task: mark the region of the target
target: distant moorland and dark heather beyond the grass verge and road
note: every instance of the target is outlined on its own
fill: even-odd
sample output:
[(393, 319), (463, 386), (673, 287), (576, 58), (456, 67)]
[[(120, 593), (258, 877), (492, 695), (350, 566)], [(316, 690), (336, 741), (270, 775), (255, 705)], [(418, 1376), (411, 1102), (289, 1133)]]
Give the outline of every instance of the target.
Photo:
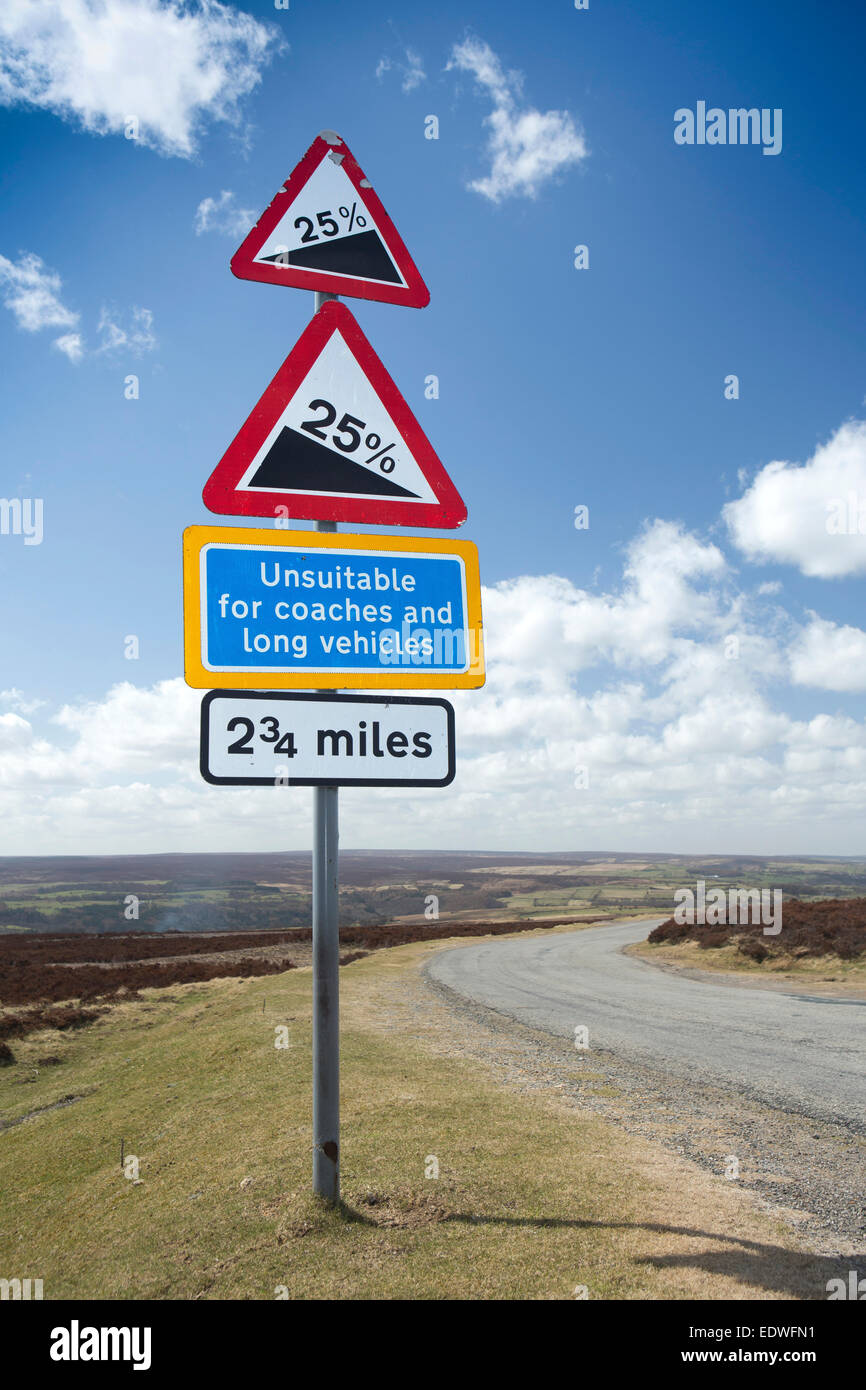
[[(784, 933), (669, 920), (632, 949), (760, 974), (815, 976), (820, 959), (827, 980), (866, 983), (866, 915), (853, 897), (866, 891), (862, 860), (348, 852), (341, 876), (342, 965), (442, 935), (660, 916), (678, 887), (703, 878), (708, 890), (781, 890)], [(92, 1024), (142, 990), (309, 966), (310, 909), (302, 853), (0, 860), (0, 1065), (14, 1063), (28, 1033)]]

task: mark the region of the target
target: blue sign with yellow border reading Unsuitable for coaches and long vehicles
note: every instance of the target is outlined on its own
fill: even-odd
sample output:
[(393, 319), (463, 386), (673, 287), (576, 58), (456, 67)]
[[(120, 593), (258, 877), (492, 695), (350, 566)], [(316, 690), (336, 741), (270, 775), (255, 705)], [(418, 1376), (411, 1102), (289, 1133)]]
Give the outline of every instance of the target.
[[(234, 673), (247, 685), (260, 676), (274, 687), (284, 684), (279, 677), (314, 687), (322, 676), (335, 688), (350, 678), (356, 687), (402, 685), (410, 671), (418, 687), (443, 678), (481, 684), (480, 621), (467, 589), (471, 542), (292, 532), (291, 541), (303, 541), (286, 543), (289, 535), (235, 528), (206, 539), (214, 530), (190, 528), (204, 532), (197, 552), (202, 673), (221, 680)], [(250, 534), (254, 545), (225, 539)], [(477, 577), (468, 580), (477, 588)], [(188, 644), (188, 678), (189, 655)]]

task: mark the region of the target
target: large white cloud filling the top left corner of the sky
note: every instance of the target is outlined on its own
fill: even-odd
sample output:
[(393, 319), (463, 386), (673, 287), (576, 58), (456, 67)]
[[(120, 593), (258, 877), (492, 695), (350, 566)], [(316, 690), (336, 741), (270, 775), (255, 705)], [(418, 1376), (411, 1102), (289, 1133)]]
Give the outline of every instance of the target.
[(3, 0), (0, 104), (95, 135), (135, 118), (140, 143), (189, 157), (209, 121), (239, 122), (278, 47), (272, 26), (217, 0)]

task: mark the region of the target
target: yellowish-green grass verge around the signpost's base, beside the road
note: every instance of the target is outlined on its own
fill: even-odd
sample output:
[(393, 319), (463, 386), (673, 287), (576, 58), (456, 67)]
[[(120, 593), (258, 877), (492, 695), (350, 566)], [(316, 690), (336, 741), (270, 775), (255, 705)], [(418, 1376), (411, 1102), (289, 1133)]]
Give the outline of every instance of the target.
[(441, 947), (342, 972), (339, 1209), (310, 1195), (307, 969), (25, 1037), (0, 1272), (46, 1300), (826, 1297), (837, 1261), (737, 1184), (461, 1056), (453, 1016), (407, 1002)]

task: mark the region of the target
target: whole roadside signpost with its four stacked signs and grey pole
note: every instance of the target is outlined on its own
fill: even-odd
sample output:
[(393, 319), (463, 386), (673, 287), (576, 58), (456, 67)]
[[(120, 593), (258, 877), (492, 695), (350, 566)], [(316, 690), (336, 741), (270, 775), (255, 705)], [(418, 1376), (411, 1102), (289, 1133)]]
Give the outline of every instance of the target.
[(183, 677), (209, 691), (206, 781), (313, 787), (313, 1191), (336, 1204), (339, 787), (448, 787), (455, 712), (430, 695), (334, 692), (484, 685), (478, 552), (471, 541), (316, 534), (338, 521), (466, 521), (466, 503), (353, 314), (327, 303), (430, 302), (339, 135), (317, 136), (232, 271), (316, 291), (316, 310), (203, 500), (221, 516), (291, 513), (316, 531), (185, 530)]

